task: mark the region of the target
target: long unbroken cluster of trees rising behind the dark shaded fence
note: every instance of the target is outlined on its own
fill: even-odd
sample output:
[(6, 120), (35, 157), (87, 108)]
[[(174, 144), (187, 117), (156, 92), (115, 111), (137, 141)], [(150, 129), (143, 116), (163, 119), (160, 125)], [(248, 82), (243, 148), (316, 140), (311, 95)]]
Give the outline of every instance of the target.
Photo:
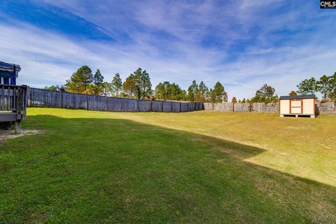
[(228, 102), (228, 93), (218, 81), (213, 88), (208, 88), (203, 81), (198, 85), (196, 80), (183, 90), (176, 83), (165, 81), (156, 85), (152, 90), (151, 78), (146, 70), (141, 68), (134, 71), (123, 80), (116, 73), (109, 83), (97, 69), (93, 74), (89, 66), (81, 66), (74, 72), (65, 85), (45, 86), (45, 90), (59, 90), (81, 94), (97, 94), (110, 97), (125, 97), (130, 99), (158, 99), (191, 102)]

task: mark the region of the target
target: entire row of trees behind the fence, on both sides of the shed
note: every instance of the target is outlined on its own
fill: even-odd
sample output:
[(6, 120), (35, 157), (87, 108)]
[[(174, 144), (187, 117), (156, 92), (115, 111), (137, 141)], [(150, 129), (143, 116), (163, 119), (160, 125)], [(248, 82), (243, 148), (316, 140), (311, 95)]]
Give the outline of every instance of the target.
[[(217, 82), (214, 87), (207, 87), (204, 81), (197, 84), (196, 80), (183, 90), (176, 83), (165, 81), (159, 83), (152, 89), (151, 78), (146, 70), (137, 69), (128, 76), (125, 81), (116, 73), (111, 82), (104, 81), (104, 76), (97, 69), (93, 74), (89, 66), (81, 66), (74, 72), (65, 85), (46, 86), (47, 90), (59, 90), (67, 92), (76, 92), (81, 94), (97, 94), (109, 97), (124, 97), (130, 99), (157, 99), (157, 100), (176, 100), (190, 102), (228, 102), (228, 93), (225, 91), (221, 82)], [(336, 72), (332, 76), (321, 76), (319, 80), (309, 78), (302, 80), (297, 85), (297, 91), (292, 91), (290, 95), (296, 94), (314, 94), (321, 92), (323, 99), (336, 100)], [(274, 87), (262, 85), (255, 92), (251, 99), (236, 99), (232, 97), (232, 103), (254, 103), (254, 102), (278, 102), (279, 97), (275, 94)]]

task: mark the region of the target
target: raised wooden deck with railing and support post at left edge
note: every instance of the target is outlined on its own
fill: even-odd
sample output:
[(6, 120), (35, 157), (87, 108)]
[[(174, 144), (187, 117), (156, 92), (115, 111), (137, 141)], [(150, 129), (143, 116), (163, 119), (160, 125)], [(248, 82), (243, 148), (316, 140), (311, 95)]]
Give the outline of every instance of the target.
[(27, 86), (0, 85), (0, 123), (15, 125), (21, 132), (21, 121), (27, 115)]

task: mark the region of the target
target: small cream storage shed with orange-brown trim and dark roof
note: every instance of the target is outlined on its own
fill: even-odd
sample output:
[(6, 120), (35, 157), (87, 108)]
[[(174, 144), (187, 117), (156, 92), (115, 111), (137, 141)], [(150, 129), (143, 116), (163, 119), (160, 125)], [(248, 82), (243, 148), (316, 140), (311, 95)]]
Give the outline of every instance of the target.
[(315, 101), (314, 94), (298, 96), (282, 96), (279, 98), (280, 117), (283, 116), (310, 116), (315, 118)]

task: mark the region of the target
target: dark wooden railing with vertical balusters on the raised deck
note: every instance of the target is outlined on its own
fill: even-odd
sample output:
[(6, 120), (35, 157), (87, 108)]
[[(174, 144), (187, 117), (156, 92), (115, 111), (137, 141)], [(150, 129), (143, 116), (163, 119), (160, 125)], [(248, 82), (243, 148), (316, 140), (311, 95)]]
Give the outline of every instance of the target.
[(27, 102), (27, 85), (0, 84), (0, 111), (17, 113), (17, 120), (25, 120)]

